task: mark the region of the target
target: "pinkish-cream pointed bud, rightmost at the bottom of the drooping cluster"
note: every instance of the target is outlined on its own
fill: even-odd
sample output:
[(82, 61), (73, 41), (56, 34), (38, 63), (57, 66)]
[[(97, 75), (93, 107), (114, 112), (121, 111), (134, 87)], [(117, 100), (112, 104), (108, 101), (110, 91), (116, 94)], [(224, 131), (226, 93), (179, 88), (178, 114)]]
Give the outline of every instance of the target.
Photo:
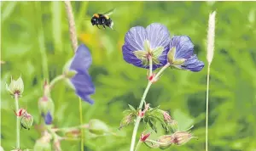
[(172, 134), (171, 142), (176, 145), (183, 145), (184, 143), (189, 142), (191, 138), (193, 137), (192, 134), (189, 133), (189, 131), (177, 131)]

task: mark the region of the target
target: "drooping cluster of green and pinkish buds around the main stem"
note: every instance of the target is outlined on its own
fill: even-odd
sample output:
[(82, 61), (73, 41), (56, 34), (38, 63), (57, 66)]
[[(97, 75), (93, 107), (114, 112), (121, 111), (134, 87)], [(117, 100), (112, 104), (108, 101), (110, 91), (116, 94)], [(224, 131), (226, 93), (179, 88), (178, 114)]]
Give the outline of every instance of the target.
[(140, 141), (145, 143), (149, 148), (166, 149), (172, 145), (188, 143), (193, 138), (189, 131), (178, 131), (177, 121), (172, 119), (167, 111), (161, 110), (159, 107), (150, 108), (149, 103), (145, 104), (144, 109), (134, 109), (131, 105), (129, 107), (129, 110), (125, 110), (128, 115), (125, 115), (121, 121), (120, 128), (134, 122), (136, 116), (139, 116), (156, 133), (158, 131), (157, 122), (169, 133), (169, 135), (160, 136), (156, 140), (151, 140), (151, 132), (143, 132)]

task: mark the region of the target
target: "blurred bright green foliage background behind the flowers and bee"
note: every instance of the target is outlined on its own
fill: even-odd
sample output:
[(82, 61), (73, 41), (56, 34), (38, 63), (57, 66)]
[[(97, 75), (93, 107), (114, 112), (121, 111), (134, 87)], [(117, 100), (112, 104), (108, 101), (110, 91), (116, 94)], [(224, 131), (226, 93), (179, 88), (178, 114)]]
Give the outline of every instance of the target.
[[(101, 119), (118, 131), (122, 112), (128, 103), (137, 107), (147, 84), (147, 70), (125, 63), (122, 44), (132, 26), (159, 22), (172, 35), (188, 35), (195, 53), (206, 64), (208, 14), (217, 10), (215, 55), (210, 84), (209, 145), (215, 151), (255, 151), (256, 149), (256, 3), (255, 2), (72, 2), (79, 43), (92, 53), (90, 75), (96, 84), (96, 103), (83, 104), (84, 121)], [(99, 30), (90, 17), (116, 8), (111, 16), (113, 28)], [(2, 146), (15, 146), (15, 101), (5, 90), (10, 77), (25, 84), (20, 106), (38, 123), (38, 98), (44, 78), (61, 74), (73, 56), (65, 6), (62, 2), (1, 2), (1, 112)], [(171, 115), (182, 130), (194, 125), (199, 137), (172, 151), (202, 151), (205, 148), (205, 98), (207, 67), (193, 73), (167, 70), (149, 90), (147, 102)], [(79, 125), (79, 98), (59, 83), (52, 92), (55, 102), (54, 124)], [(125, 137), (85, 137), (85, 150), (126, 151), (130, 148), (132, 126), (121, 131)], [(143, 131), (143, 126), (139, 132)], [(86, 131), (88, 132), (88, 131)], [(21, 147), (33, 148), (38, 131), (22, 130)], [(137, 135), (139, 137), (139, 135)], [(63, 150), (79, 150), (79, 142), (61, 143)], [(147, 150), (145, 146), (140, 150)], [(157, 150), (157, 149), (155, 149)]]

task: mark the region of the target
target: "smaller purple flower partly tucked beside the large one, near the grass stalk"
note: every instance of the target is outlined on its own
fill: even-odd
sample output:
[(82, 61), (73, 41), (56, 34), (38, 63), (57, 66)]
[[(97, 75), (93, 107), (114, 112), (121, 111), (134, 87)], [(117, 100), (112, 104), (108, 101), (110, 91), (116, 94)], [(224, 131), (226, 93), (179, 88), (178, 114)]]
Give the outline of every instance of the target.
[(167, 54), (171, 67), (181, 70), (200, 71), (205, 64), (193, 54), (194, 44), (189, 36), (173, 36)]

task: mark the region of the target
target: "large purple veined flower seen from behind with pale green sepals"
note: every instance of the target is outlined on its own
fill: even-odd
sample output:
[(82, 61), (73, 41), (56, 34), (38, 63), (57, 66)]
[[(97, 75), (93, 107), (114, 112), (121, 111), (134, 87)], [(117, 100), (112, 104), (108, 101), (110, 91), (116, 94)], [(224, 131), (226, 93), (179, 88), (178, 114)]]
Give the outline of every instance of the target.
[(170, 47), (170, 34), (165, 25), (153, 23), (145, 29), (132, 27), (125, 35), (123, 57), (129, 64), (149, 68), (152, 58), (153, 70), (167, 63), (166, 55)]

